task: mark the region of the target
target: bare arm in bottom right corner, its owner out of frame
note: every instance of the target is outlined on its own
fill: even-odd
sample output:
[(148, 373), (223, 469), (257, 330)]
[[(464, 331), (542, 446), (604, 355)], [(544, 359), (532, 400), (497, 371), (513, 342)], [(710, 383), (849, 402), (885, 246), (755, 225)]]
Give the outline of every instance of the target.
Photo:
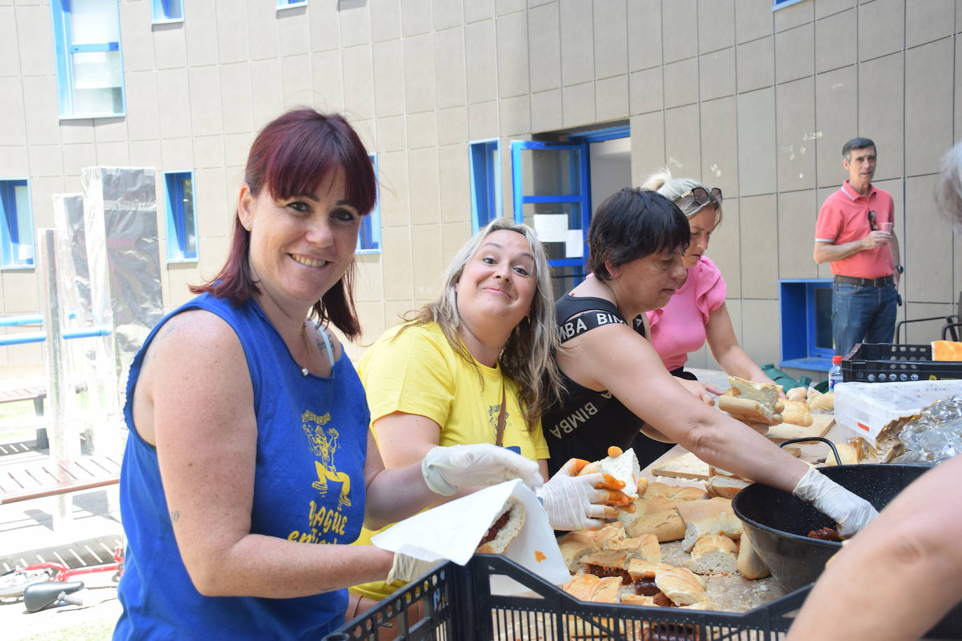
[[(834, 557), (786, 641), (918, 639), (962, 598), (962, 456), (909, 485)], [(825, 625), (825, 622), (831, 625)]]

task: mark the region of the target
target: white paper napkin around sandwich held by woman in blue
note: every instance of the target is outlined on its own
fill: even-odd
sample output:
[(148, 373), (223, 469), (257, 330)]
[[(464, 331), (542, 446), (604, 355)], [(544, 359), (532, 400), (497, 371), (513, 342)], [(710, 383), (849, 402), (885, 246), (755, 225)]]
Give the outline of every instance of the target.
[[(416, 556), (425, 561), (446, 558), (464, 565), (474, 555), (478, 541), (491, 527), (494, 515), (501, 510), (509, 496), (518, 498), (527, 510), (527, 516), (518, 536), (505, 551), (505, 556), (552, 583), (561, 584), (570, 580), (544, 507), (538, 497), (517, 479), (486, 487), (456, 501), (420, 512), (375, 535), (371, 543), (383, 550)], [(495, 594), (515, 594), (526, 589), (511, 579), (495, 577), (492, 580)]]

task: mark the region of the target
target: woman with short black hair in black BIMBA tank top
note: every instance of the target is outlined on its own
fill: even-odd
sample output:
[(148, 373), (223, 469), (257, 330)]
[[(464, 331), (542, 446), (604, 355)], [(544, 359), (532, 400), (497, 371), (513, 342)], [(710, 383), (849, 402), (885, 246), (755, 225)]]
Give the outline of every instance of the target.
[(871, 505), (702, 403), (633, 327), (637, 316), (664, 307), (684, 283), (689, 238), (688, 219), (654, 191), (625, 187), (595, 211), (588, 230), (593, 277), (555, 306), (565, 391), (543, 418), (550, 465), (570, 456), (602, 458), (608, 446), (628, 447), (641, 429), (711, 465), (795, 491), (849, 531), (858, 530), (873, 518)]

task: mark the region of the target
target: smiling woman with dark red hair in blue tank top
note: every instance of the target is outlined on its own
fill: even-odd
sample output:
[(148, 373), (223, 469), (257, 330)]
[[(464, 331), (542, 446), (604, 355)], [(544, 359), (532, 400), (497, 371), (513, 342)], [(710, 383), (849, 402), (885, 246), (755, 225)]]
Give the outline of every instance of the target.
[(364, 390), (327, 330), (361, 333), (354, 248), (375, 196), (341, 116), (291, 111), (255, 139), (226, 264), (131, 366), (114, 638), (319, 638), (343, 621), (343, 588), (430, 568), (346, 545), (362, 525), (452, 488), (541, 484), (536, 463), (490, 445), (384, 469)]

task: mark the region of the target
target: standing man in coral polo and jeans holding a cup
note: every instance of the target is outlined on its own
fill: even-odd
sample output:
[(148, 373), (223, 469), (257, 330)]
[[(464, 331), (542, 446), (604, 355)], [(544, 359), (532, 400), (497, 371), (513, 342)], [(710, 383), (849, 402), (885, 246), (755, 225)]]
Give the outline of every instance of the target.
[(832, 340), (835, 354), (855, 343), (891, 343), (899, 301), (899, 239), (893, 234), (895, 204), (872, 185), (875, 143), (852, 138), (842, 147), (848, 180), (825, 199), (815, 223), (818, 263), (831, 262)]

